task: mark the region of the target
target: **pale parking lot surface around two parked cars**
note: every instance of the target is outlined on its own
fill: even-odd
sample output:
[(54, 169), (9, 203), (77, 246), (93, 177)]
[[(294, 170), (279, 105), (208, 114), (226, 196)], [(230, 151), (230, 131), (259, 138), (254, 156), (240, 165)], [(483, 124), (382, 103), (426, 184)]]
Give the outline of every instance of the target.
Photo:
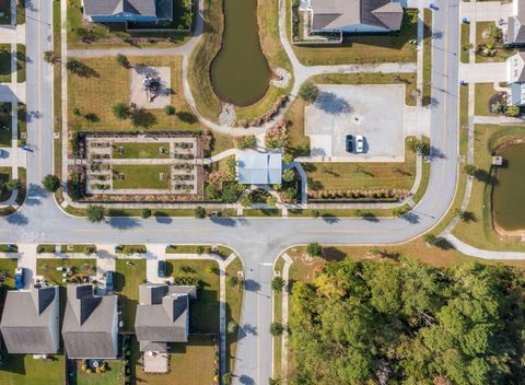
[[(305, 107), (311, 156), (332, 162), (402, 162), (405, 85), (319, 84), (317, 101)], [(362, 153), (347, 152), (348, 135), (364, 137)]]

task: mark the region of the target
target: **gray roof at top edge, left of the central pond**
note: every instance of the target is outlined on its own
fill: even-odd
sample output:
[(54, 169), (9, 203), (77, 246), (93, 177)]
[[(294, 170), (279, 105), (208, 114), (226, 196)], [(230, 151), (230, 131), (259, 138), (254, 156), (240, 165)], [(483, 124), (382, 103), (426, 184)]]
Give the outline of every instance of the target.
[(114, 15), (121, 12), (144, 16), (156, 15), (156, 0), (83, 0), (84, 14)]

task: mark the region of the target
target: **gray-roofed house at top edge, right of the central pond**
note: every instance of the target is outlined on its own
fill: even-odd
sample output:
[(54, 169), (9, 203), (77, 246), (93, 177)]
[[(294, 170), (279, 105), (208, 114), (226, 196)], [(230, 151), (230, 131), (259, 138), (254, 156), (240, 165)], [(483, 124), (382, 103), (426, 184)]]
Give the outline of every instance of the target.
[(404, 10), (393, 0), (310, 0), (312, 33), (380, 33), (401, 28)]

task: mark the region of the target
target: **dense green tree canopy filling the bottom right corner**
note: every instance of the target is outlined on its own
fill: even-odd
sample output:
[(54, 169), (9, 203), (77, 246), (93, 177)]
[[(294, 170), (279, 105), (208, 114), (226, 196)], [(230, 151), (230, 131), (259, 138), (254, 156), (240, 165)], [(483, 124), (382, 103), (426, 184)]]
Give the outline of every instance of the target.
[(504, 266), (329, 262), (292, 288), (291, 384), (524, 384), (524, 294)]

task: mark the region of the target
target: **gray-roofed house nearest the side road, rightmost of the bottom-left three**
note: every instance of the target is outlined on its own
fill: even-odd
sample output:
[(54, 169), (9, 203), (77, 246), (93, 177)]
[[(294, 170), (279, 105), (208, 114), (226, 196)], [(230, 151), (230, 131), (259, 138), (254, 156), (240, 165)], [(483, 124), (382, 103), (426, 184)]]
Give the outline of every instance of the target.
[(187, 342), (189, 301), (197, 299), (197, 288), (143, 283), (135, 319), (140, 351), (165, 353), (168, 342)]

